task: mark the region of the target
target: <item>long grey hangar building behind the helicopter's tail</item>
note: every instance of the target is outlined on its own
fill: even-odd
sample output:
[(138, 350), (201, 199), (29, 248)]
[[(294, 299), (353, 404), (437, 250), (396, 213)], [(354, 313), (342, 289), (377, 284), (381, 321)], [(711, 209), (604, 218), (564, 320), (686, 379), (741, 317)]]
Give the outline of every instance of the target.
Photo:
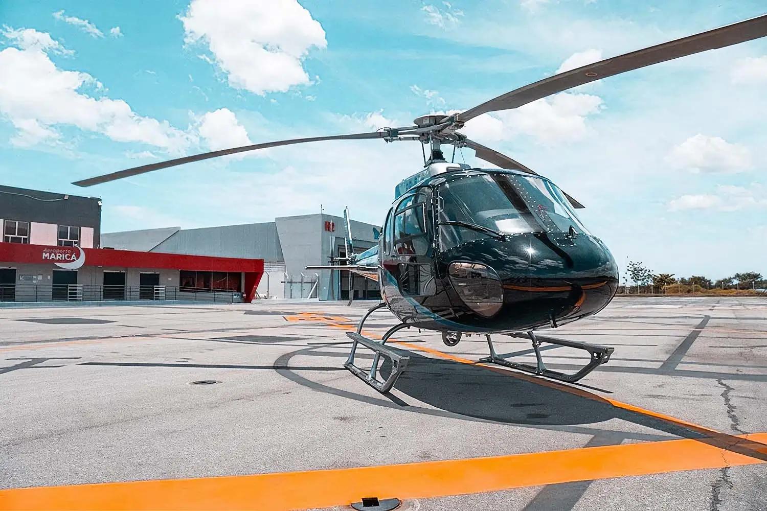
[[(304, 269), (346, 256), (343, 222), (341, 217), (317, 213), (257, 224), (113, 232), (101, 235), (101, 246), (150, 253), (257, 257), (264, 260), (264, 277), (258, 285), (262, 298), (348, 300), (347, 272)], [(377, 244), (379, 226), (359, 221), (350, 224), (354, 253)], [(380, 297), (378, 283), (364, 277), (352, 277), (351, 289), (354, 299)]]

